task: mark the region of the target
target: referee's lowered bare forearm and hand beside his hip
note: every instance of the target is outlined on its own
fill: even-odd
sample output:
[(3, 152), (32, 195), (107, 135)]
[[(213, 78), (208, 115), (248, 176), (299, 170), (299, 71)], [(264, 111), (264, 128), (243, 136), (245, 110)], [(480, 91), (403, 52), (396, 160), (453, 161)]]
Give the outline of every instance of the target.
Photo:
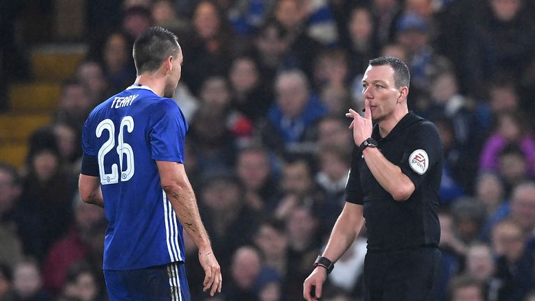
[[(331, 236), (322, 256), (333, 263), (338, 261), (350, 247), (364, 225), (362, 205), (346, 202), (340, 216), (334, 224)], [(327, 270), (318, 265), (307, 277), (303, 284), (303, 297), (308, 300), (318, 300), (322, 295), (323, 282), (327, 279)]]

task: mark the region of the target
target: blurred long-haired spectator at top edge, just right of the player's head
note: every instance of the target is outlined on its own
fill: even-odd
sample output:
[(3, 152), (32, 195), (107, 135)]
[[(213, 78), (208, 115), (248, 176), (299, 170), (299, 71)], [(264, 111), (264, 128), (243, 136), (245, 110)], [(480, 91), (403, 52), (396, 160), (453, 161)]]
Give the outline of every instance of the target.
[(183, 70), (185, 84), (194, 95), (210, 70), (212, 74), (226, 74), (228, 58), (234, 54), (233, 32), (220, 8), (212, 1), (199, 1), (192, 17), (193, 31), (184, 47), (188, 68)]

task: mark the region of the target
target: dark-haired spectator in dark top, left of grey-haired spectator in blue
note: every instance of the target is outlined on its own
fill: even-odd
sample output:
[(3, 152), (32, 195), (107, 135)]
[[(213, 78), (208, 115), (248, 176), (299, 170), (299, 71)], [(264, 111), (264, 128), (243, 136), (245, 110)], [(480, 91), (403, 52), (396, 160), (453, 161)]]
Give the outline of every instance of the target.
[(232, 106), (253, 122), (267, 114), (273, 101), (272, 88), (265, 86), (256, 61), (250, 56), (239, 56), (228, 72)]

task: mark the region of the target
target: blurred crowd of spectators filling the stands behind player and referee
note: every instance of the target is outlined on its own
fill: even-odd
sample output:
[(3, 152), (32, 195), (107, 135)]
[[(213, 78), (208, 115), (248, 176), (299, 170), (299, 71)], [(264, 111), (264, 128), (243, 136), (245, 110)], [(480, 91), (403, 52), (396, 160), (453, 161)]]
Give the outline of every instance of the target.
[[(107, 300), (101, 208), (80, 201), (80, 132), (136, 77), (134, 38), (183, 49), (174, 100), (185, 167), (224, 273), (221, 294), (186, 238), (193, 300), (302, 300), (344, 204), (369, 59), (397, 56), (409, 109), (437, 125), (442, 280), (436, 300), (535, 300), (535, 1), (92, 0), (88, 56), (63, 83), (24, 167), (0, 164), (0, 300)], [(323, 300), (362, 300), (366, 233)]]

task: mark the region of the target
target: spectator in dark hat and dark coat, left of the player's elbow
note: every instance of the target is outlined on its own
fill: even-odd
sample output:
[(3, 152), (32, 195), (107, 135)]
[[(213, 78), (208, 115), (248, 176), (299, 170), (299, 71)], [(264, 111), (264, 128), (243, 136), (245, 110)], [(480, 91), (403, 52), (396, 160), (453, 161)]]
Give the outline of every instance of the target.
[(26, 175), (17, 210), (24, 253), (41, 262), (52, 243), (68, 231), (73, 220), (76, 178), (62, 168), (56, 137), (41, 128), (29, 139)]

